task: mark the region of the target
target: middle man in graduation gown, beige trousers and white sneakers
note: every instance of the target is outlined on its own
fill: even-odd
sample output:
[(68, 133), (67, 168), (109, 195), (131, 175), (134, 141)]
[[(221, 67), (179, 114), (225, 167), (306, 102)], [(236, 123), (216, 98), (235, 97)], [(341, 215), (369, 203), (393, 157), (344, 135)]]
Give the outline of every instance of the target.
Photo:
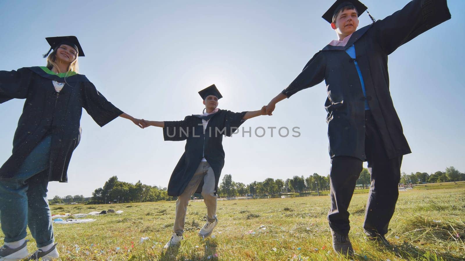
[[(201, 193), (207, 208), (207, 222), (199, 236), (206, 238), (218, 224), (216, 203), (219, 176), (225, 164), (223, 135), (231, 137), (246, 119), (266, 115), (266, 106), (258, 111), (232, 112), (217, 108), (223, 96), (215, 85), (199, 91), (205, 104), (204, 113), (186, 116), (182, 121), (144, 121), (145, 126), (163, 128), (166, 141), (186, 140), (186, 150), (179, 159), (168, 183), (168, 196), (177, 196), (173, 235), (165, 248), (183, 239), (187, 205), (191, 196)], [(144, 126), (144, 127), (145, 127)]]

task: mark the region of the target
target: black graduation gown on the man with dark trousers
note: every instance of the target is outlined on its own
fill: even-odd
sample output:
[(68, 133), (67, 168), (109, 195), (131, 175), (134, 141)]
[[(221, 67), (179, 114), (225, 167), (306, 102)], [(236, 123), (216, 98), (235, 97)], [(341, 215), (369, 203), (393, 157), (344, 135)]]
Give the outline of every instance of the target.
[(387, 156), (411, 153), (389, 92), (387, 56), (450, 18), (446, 0), (413, 0), (385, 19), (354, 32), (346, 46), (323, 48), (282, 93), (289, 98), (325, 80), (329, 154), (365, 161), (365, 97), (353, 59), (345, 52), (355, 44), (366, 99)]

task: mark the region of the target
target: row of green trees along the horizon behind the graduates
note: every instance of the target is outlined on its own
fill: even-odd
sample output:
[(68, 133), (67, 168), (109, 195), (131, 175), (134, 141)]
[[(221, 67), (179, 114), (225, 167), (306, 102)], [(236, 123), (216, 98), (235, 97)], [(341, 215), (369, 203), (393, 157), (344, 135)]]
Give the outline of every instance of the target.
[[(464, 181), (465, 174), (454, 167), (448, 167), (445, 171), (415, 172), (410, 175), (405, 172), (401, 175), (400, 183), (438, 183), (449, 181)], [(360, 189), (368, 189), (371, 183), (368, 169), (363, 168), (357, 185)], [(223, 176), (219, 184), (217, 194), (219, 196), (263, 196), (279, 193), (306, 193), (327, 191), (330, 189), (329, 175), (320, 176), (313, 173), (310, 176), (293, 176), (286, 180), (266, 178), (264, 181), (254, 181), (250, 184), (234, 182), (231, 174)], [(200, 196), (200, 195), (197, 195)], [(66, 197), (55, 196), (50, 203), (87, 202), (93, 204), (122, 203), (122, 202), (155, 202), (176, 200), (176, 197), (168, 196), (166, 188), (137, 183), (119, 181), (117, 176), (112, 176), (103, 187), (95, 189), (92, 198), (82, 195)]]

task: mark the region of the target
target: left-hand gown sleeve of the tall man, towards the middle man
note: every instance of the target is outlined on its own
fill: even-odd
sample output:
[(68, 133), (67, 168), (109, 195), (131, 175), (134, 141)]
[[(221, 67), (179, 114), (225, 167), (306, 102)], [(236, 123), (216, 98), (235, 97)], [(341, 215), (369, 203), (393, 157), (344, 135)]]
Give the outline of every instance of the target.
[(325, 79), (325, 55), (320, 51), (313, 55), (304, 70), (281, 93), (291, 97), (294, 93), (315, 86)]

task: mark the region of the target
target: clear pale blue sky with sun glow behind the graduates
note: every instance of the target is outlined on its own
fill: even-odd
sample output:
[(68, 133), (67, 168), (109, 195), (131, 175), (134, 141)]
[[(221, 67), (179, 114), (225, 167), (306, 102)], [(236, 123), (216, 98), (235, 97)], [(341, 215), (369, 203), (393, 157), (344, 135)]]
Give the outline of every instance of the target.
[[(407, 0), (363, 0), (376, 19)], [(323, 4), (325, 3), (325, 4)], [(197, 91), (215, 84), (220, 109), (258, 110), (299, 74), (336, 33), (321, 15), (332, 1), (0, 1), (0, 70), (45, 65), (45, 37), (75, 35), (86, 57), (80, 73), (122, 111), (148, 120), (181, 120), (203, 109)], [(394, 105), (413, 151), (402, 171), (465, 171), (465, 1), (449, 0), (452, 19), (389, 57)], [(362, 14), (360, 26), (370, 23)], [(252, 137), (225, 137), (224, 174), (242, 183), (316, 172), (326, 176), (325, 84), (280, 102), (273, 116), (247, 120)], [(0, 104), (0, 162), (11, 155), (24, 100)], [(255, 137), (255, 128), (266, 135)], [(185, 142), (164, 142), (160, 128), (117, 118), (103, 128), (85, 111), (69, 183), (55, 195), (91, 196), (110, 176), (166, 187)], [(271, 137), (268, 127), (299, 127)], [(284, 132), (282, 132), (285, 134)], [(262, 131), (259, 130), (261, 135)], [(291, 132), (292, 134), (292, 132)], [(0, 164), (1, 164), (0, 163)]]

